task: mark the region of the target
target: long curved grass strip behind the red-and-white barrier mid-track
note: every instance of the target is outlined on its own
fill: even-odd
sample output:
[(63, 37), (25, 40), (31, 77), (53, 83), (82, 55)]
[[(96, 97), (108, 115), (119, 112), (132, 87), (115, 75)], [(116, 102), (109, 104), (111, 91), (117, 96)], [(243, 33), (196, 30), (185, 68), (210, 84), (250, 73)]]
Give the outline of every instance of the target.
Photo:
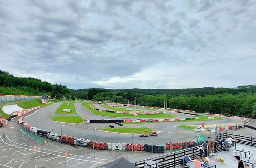
[[(96, 115), (101, 115), (101, 116), (112, 116), (112, 117), (143, 117), (143, 118), (151, 118), (151, 117), (162, 117), (162, 118), (170, 118), (170, 117), (176, 117), (175, 115), (170, 115), (170, 114), (150, 114), (150, 115), (138, 115), (134, 116), (132, 114), (119, 114), (119, 113), (111, 113), (111, 112), (103, 112), (103, 111), (98, 111), (95, 109), (92, 109), (91, 107), (88, 106), (89, 103), (82, 103), (84, 107), (86, 107), (91, 113), (96, 114)], [(92, 104), (91, 104), (92, 105)]]

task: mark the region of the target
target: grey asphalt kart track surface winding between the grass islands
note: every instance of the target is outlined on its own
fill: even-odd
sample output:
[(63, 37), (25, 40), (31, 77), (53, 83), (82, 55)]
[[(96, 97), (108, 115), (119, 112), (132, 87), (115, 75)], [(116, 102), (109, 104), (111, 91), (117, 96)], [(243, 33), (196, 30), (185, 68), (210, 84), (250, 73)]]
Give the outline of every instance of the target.
[[(37, 127), (42, 130), (53, 131), (59, 134), (61, 133), (60, 131), (61, 126), (65, 125), (63, 126), (63, 132), (62, 132), (63, 135), (86, 138), (86, 139), (91, 139), (98, 142), (132, 143), (131, 134), (120, 134), (120, 133), (100, 131), (101, 128), (109, 128), (110, 123), (69, 124), (69, 123), (52, 121), (51, 120), (52, 115), (55, 113), (55, 111), (58, 109), (58, 107), (62, 103), (63, 102), (57, 102), (47, 107), (36, 110), (33, 113), (25, 116), (24, 121), (28, 122), (28, 124), (32, 125), (33, 127)], [(114, 117), (108, 117), (108, 116), (95, 115), (95, 114), (92, 114), (89, 110), (87, 110), (87, 108), (84, 107), (81, 103), (75, 103), (74, 105), (75, 105), (77, 114), (81, 116), (83, 119), (89, 119), (89, 120), (90, 119), (95, 119), (95, 120), (124, 119), (124, 118), (114, 118)], [(142, 119), (141, 116), (140, 116), (140, 119)], [(180, 114), (177, 114), (177, 116), (181, 117)], [(136, 118), (133, 118), (133, 119), (136, 119)], [(190, 124), (195, 125), (195, 124), (202, 124), (202, 122), (204, 122), (205, 124), (216, 124), (216, 123), (236, 123), (236, 122), (242, 122), (242, 120), (226, 117), (224, 118), (224, 120), (211, 120), (211, 121), (164, 122), (164, 123), (159, 122), (159, 123), (146, 123), (146, 124), (124, 124), (123, 126), (119, 126), (116, 124), (113, 124), (113, 125), (115, 126), (115, 128), (148, 127), (153, 130), (160, 131), (158, 136), (153, 136), (150, 138), (141, 138), (139, 137), (138, 134), (134, 134), (133, 142), (151, 144), (152, 141), (154, 141), (154, 143), (156, 144), (165, 144), (166, 142), (168, 142), (168, 139), (170, 136), (172, 139), (189, 138), (189, 137), (196, 136), (194, 132), (177, 128), (175, 127), (176, 125), (190, 125)], [(96, 130), (94, 130), (95, 128)], [(168, 132), (170, 132), (170, 134)], [(95, 133), (95, 136), (94, 136), (94, 133)], [(113, 140), (113, 137), (114, 137), (114, 140)]]

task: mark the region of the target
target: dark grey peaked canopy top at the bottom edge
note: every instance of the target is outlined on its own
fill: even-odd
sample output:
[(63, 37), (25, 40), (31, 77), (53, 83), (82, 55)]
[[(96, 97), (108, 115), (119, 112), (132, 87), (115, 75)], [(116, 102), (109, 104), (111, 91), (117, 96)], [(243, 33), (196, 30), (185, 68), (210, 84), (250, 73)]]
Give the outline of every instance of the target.
[(123, 157), (121, 157), (115, 161), (112, 161), (108, 164), (101, 165), (98, 168), (103, 168), (103, 167), (104, 168), (137, 168), (136, 166), (134, 166), (132, 163), (130, 163)]

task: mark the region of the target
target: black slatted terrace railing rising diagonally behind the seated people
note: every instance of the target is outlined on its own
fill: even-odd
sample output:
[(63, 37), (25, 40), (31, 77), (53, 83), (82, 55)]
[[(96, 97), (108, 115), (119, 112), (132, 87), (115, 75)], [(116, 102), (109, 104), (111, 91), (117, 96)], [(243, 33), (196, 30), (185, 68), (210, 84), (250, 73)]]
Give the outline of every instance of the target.
[[(223, 142), (225, 138), (220, 139), (214, 143), (214, 152), (221, 152), (223, 151)], [(234, 143), (235, 144), (235, 143)], [(139, 168), (144, 167), (144, 162), (147, 160), (153, 160), (157, 162), (158, 167), (160, 168), (168, 168), (168, 167), (175, 167), (180, 165), (181, 159), (184, 156), (189, 156), (191, 159), (195, 159), (196, 156), (202, 157), (204, 154), (204, 150), (199, 148), (200, 146), (184, 149), (181, 151), (153, 157), (151, 159), (141, 160), (138, 162), (134, 162), (133, 164)]]

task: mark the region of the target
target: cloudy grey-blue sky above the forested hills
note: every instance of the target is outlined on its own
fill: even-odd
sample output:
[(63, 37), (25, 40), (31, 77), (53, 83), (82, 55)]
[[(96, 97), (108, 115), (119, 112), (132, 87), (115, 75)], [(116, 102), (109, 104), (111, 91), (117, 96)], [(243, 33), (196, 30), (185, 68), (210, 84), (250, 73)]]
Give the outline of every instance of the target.
[(256, 83), (256, 1), (0, 0), (0, 69), (78, 88)]

